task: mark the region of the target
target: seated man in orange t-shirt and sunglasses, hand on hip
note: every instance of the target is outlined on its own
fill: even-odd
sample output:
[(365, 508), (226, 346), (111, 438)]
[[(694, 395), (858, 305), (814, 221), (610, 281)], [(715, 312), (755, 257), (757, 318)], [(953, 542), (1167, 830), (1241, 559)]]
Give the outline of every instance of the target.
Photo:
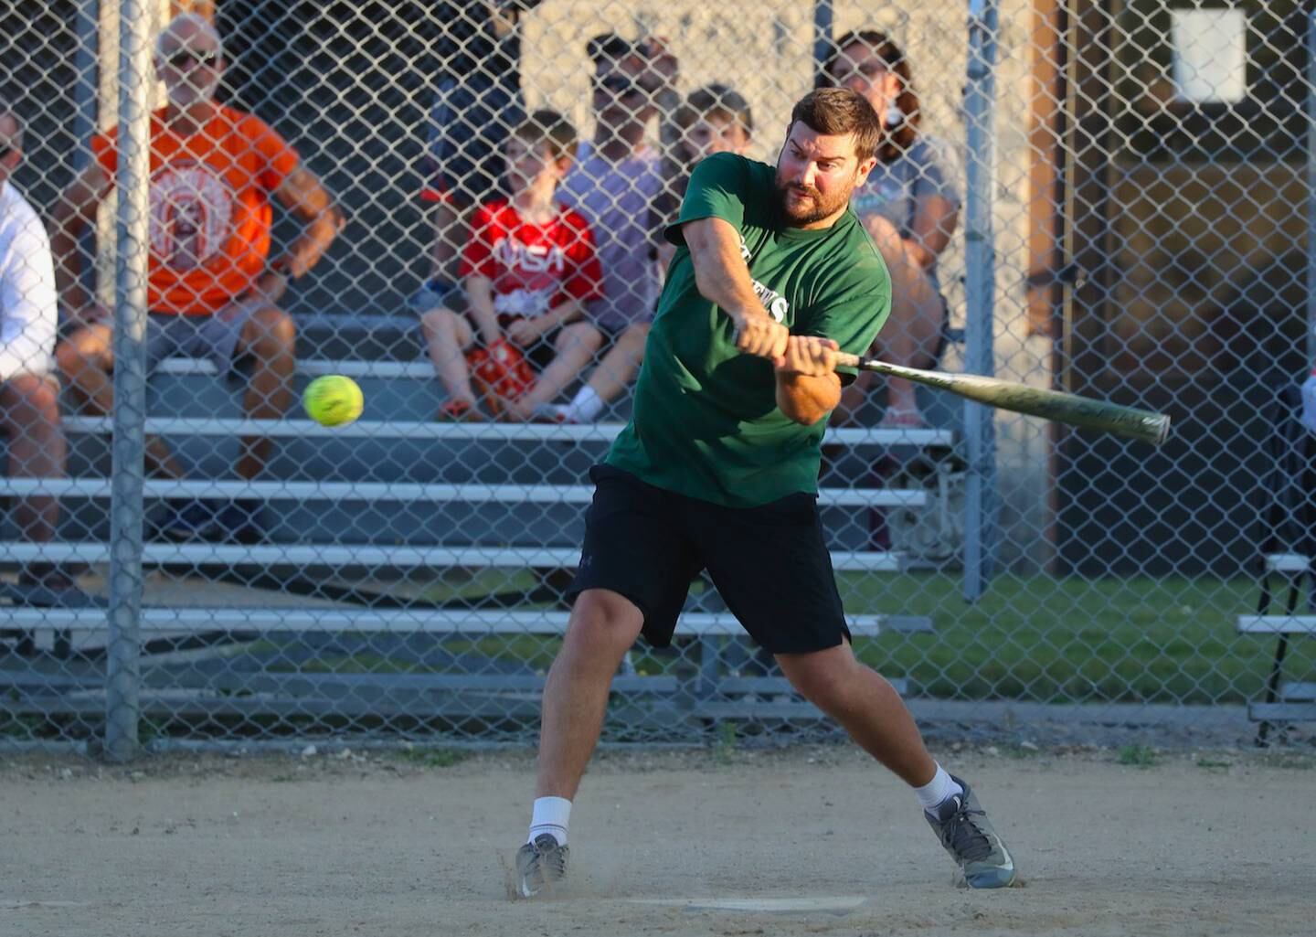
[[(151, 116), (150, 130), (147, 372), (172, 355), (208, 358), (220, 374), (230, 372), (236, 358), (250, 358), (246, 416), (276, 420), (292, 399), (296, 363), (296, 329), (278, 301), (325, 253), (342, 216), (278, 133), (215, 100), (224, 57), (204, 17), (175, 17), (155, 42), (154, 62), (168, 103)], [(113, 188), (116, 133), (97, 136), (92, 153), (96, 159), (54, 213), (55, 275), (72, 326), (55, 355), (86, 409), (104, 415), (113, 408), (113, 322), (82, 286), (78, 238)], [(272, 259), (270, 196), (303, 224)], [(146, 451), (153, 474), (182, 476), (163, 441), (149, 437)], [(237, 475), (254, 479), (268, 451), (267, 438), (242, 440)], [(250, 542), (263, 536), (257, 520), (253, 501), (197, 500), (162, 528), (175, 540)]]

